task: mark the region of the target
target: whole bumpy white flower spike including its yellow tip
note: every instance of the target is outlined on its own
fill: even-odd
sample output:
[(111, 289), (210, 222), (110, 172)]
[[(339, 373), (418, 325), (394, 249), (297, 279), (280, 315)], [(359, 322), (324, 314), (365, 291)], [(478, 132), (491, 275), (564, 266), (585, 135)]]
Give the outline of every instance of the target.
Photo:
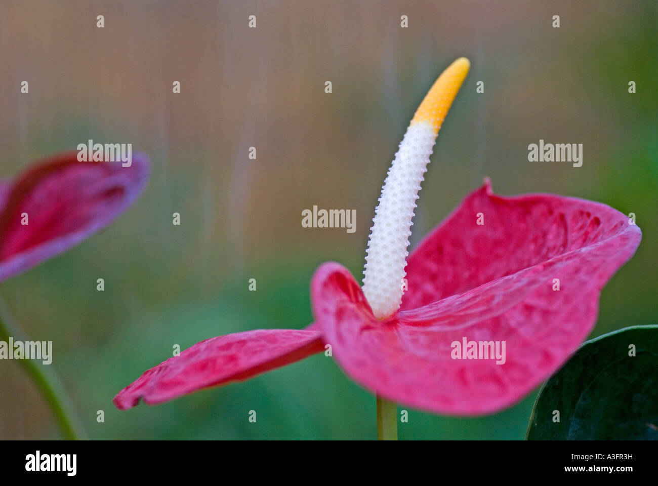
[(443, 119), (469, 67), (468, 59), (461, 57), (436, 80), (409, 124), (384, 181), (363, 272), (363, 293), (378, 318), (392, 315), (402, 301), (411, 220), (420, 182)]

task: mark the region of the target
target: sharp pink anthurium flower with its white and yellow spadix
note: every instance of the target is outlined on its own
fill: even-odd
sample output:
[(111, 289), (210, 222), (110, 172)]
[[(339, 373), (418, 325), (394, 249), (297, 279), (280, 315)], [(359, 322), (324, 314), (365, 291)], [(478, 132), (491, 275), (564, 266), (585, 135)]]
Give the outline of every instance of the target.
[[(470, 416), (511, 406), (565, 363), (594, 327), (601, 288), (640, 244), (640, 229), (619, 211), (551, 194), (497, 196), (485, 180), (407, 261), (420, 182), (468, 68), (461, 58), (443, 72), (395, 154), (363, 288), (324, 263), (311, 281), (313, 325), (199, 342), (143, 373), (114, 404), (158, 404), (331, 346), (343, 371), (378, 396)], [(504, 342), (505, 359), (476, 356), (470, 345), (455, 352), (471, 341)]]

